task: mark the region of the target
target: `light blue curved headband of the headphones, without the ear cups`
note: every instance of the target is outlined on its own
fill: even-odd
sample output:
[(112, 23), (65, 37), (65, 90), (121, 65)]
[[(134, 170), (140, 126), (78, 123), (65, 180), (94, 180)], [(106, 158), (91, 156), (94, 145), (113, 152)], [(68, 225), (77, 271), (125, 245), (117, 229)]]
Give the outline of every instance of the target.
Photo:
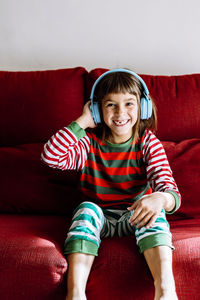
[(106, 75), (108, 74), (111, 74), (111, 73), (117, 73), (117, 72), (121, 72), (121, 73), (128, 73), (128, 74), (131, 74), (133, 76), (135, 76), (137, 79), (139, 79), (139, 81), (141, 82), (142, 86), (143, 86), (143, 89), (144, 89), (144, 92), (143, 94), (145, 96), (148, 96), (149, 95), (149, 90), (146, 86), (146, 83), (144, 82), (144, 80), (138, 75), (136, 74), (135, 72), (133, 71), (130, 71), (130, 70), (127, 70), (127, 69), (113, 69), (113, 70), (110, 70), (110, 71), (107, 71), (105, 73), (103, 73), (101, 76), (99, 76), (97, 78), (97, 80), (95, 81), (93, 87), (92, 87), (92, 90), (91, 90), (91, 94), (90, 94), (90, 99), (93, 100), (94, 99), (94, 92), (95, 92), (95, 89), (96, 89), (96, 86), (97, 84), (99, 83), (99, 81), (101, 81), (101, 79), (103, 77), (105, 77)]

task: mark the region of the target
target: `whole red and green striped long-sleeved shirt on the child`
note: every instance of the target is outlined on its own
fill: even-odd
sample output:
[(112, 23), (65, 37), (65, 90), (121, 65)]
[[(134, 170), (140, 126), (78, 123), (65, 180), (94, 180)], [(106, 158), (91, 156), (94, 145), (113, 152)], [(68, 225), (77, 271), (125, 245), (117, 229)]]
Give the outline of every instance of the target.
[(164, 148), (150, 130), (137, 143), (111, 144), (73, 122), (44, 145), (42, 160), (53, 168), (80, 171), (84, 199), (101, 207), (123, 209), (152, 191), (172, 193), (174, 211), (180, 205)]

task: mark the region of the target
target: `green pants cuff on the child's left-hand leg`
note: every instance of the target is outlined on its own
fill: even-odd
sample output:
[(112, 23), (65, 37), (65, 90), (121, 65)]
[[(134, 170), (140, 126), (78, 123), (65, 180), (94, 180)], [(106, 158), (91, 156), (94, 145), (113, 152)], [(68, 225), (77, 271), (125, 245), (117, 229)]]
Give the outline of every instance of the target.
[(66, 244), (64, 254), (85, 253), (98, 256), (98, 246), (87, 240), (72, 240)]

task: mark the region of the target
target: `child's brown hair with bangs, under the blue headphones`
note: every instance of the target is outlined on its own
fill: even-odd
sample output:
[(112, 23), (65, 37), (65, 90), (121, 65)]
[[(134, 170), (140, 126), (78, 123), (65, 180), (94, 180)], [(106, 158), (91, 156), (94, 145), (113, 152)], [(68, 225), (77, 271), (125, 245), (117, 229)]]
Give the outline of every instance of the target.
[[(140, 108), (140, 98), (143, 94), (143, 86), (138, 78), (133, 76), (130, 73), (126, 72), (115, 72), (110, 73), (104, 76), (98, 85), (95, 88), (95, 101), (99, 104), (99, 111), (101, 116), (101, 124), (99, 124), (96, 128), (96, 132), (100, 135), (100, 138), (105, 140), (110, 136), (111, 132), (110, 129), (103, 121), (103, 114), (102, 114), (102, 100), (104, 97), (110, 93), (129, 93), (136, 96), (138, 101), (138, 107)], [(152, 98), (151, 98), (152, 100)], [(140, 119), (140, 109), (138, 109), (138, 119), (133, 127), (133, 137), (134, 142), (136, 142), (143, 134), (145, 129), (150, 129), (155, 131), (157, 128), (157, 114), (156, 114), (156, 106), (152, 100), (152, 116), (148, 120)]]

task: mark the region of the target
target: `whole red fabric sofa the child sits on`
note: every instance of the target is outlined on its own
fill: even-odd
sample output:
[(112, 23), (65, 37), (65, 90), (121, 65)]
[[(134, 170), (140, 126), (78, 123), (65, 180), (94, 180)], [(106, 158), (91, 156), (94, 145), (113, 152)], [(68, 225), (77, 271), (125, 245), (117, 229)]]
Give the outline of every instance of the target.
[[(77, 118), (94, 80), (84, 68), (0, 72), (0, 299), (62, 300), (62, 254), (79, 174), (45, 166), (43, 144)], [(169, 216), (180, 300), (200, 299), (200, 74), (142, 75), (158, 108), (163, 142), (182, 194)], [(104, 239), (88, 300), (150, 300), (153, 281), (133, 237)]]

